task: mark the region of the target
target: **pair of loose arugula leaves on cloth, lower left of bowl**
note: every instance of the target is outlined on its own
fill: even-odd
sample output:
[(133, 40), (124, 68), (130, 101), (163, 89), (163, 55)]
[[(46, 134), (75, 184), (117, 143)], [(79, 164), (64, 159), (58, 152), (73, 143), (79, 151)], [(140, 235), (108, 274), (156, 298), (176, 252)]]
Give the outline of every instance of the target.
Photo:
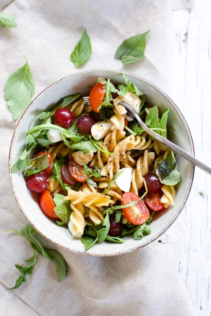
[(47, 258), (50, 261), (53, 261), (55, 267), (56, 267), (56, 272), (57, 272), (57, 277), (58, 277), (58, 282), (61, 282), (66, 274), (67, 274), (67, 265), (65, 262), (65, 259), (60, 255), (59, 252), (52, 250), (52, 249), (47, 249), (44, 248), (40, 242), (34, 237), (36, 235), (39, 237), (39, 234), (36, 232), (36, 230), (31, 226), (31, 225), (26, 225), (22, 230), (16, 231), (16, 230), (8, 230), (9, 232), (13, 233), (18, 233), (24, 236), (28, 241), (30, 242), (34, 255), (29, 258), (28, 260), (25, 260), (28, 262), (28, 266), (22, 267), (18, 264), (16, 264), (16, 268), (21, 272), (21, 275), (17, 278), (16, 284), (13, 288), (11, 289), (17, 289), (23, 282), (26, 282), (26, 275), (32, 273), (32, 269), (34, 264), (36, 263), (36, 253), (35, 250), (43, 257)]

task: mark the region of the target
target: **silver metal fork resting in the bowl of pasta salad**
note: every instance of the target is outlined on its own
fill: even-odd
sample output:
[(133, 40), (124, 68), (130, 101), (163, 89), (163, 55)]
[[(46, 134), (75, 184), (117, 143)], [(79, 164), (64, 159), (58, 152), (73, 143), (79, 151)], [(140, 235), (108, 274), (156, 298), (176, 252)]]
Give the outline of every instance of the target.
[[(89, 102), (89, 97), (84, 97), (84, 101), (90, 105)], [(110, 99), (110, 101), (114, 101), (114, 99)], [(125, 106), (127, 109), (127, 115), (130, 116), (133, 119), (136, 119), (138, 121), (138, 123), (141, 125), (141, 127), (143, 128), (143, 130), (145, 130), (147, 132), (147, 134), (149, 134), (150, 136), (154, 137), (154, 139), (156, 139), (158, 142), (160, 142), (161, 144), (165, 145), (166, 147), (168, 147), (169, 149), (173, 150), (174, 152), (176, 152), (177, 154), (183, 156), (186, 160), (192, 162), (195, 166), (201, 168), (203, 171), (207, 172), (208, 174), (211, 175), (211, 168), (209, 168), (208, 166), (206, 166), (204, 163), (202, 163), (201, 161), (199, 161), (198, 159), (196, 159), (194, 156), (190, 155), (187, 151), (185, 151), (184, 149), (180, 148), (179, 146), (175, 145), (174, 143), (172, 143), (170, 140), (164, 138), (163, 136), (157, 134), (156, 132), (152, 131), (150, 128), (148, 128), (144, 122), (140, 119), (140, 117), (138, 116), (138, 114), (133, 110), (133, 108), (131, 106), (129, 106), (127, 103), (120, 101), (119, 102), (121, 105)]]

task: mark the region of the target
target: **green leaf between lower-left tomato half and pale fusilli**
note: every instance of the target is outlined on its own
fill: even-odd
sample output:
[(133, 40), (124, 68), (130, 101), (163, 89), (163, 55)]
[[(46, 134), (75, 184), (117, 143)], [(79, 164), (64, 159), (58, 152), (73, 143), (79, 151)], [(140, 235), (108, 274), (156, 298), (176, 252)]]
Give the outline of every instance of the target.
[(65, 196), (56, 193), (53, 197), (55, 203), (54, 212), (62, 220), (62, 222), (56, 221), (59, 226), (66, 225), (70, 220), (72, 209), (70, 207), (70, 201), (65, 200)]

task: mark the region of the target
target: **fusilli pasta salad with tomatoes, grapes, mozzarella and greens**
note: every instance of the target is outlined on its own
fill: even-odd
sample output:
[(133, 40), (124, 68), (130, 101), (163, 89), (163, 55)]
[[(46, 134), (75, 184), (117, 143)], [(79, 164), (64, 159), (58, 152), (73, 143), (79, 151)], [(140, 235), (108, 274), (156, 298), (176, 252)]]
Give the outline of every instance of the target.
[(12, 167), (40, 194), (41, 210), (59, 226), (67, 225), (86, 250), (96, 242), (123, 243), (125, 237), (150, 234), (154, 213), (174, 205), (180, 181), (174, 153), (127, 116), (119, 102), (164, 137), (169, 109), (161, 115), (123, 78), (125, 84), (98, 78), (90, 105), (77, 93), (40, 113), (40, 124), (28, 131)]

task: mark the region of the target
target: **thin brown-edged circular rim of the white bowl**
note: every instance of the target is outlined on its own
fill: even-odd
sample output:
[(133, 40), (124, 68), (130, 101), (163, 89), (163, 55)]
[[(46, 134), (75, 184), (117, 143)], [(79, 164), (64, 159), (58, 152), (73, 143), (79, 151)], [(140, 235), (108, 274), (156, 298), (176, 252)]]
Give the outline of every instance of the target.
[(130, 72), (127, 72), (127, 71), (121, 71), (121, 70), (113, 70), (113, 69), (93, 69), (93, 70), (85, 70), (85, 71), (80, 71), (80, 72), (76, 72), (76, 73), (73, 73), (71, 75), (68, 75), (68, 76), (65, 76), (55, 82), (53, 82), (51, 85), (49, 85), (47, 88), (45, 88), (43, 91), (41, 91), (32, 101), (31, 103), (27, 106), (27, 108), (25, 109), (25, 111), (23, 112), (23, 114), (21, 115), (20, 119), (18, 120), (18, 123), (15, 127), (15, 130), (13, 132), (13, 136), (12, 136), (12, 139), (11, 139), (11, 143), (10, 143), (10, 147), (9, 147), (9, 160), (8, 160), (8, 168), (9, 168), (9, 182), (10, 182), (10, 185), (11, 185), (11, 188), (12, 188), (12, 191), (13, 191), (13, 194), (15, 196), (15, 199), (16, 199), (16, 202), (20, 208), (20, 210), (22, 211), (23, 215), (26, 217), (26, 219), (28, 220), (28, 222), (30, 223), (30, 225), (32, 227), (34, 227), (34, 229), (41, 235), (43, 236), (44, 238), (46, 238), (47, 240), (51, 241), (53, 244), (55, 244), (56, 246), (59, 246), (63, 249), (66, 249), (66, 250), (69, 250), (69, 251), (72, 251), (72, 252), (75, 252), (75, 253), (79, 253), (79, 254), (84, 254), (84, 255), (89, 255), (89, 256), (99, 256), (99, 257), (106, 257), (106, 256), (114, 256), (114, 255), (119, 255), (119, 254), (124, 254), (124, 253), (128, 253), (128, 252), (132, 252), (134, 250), (137, 250), (137, 249), (140, 249), (148, 244), (150, 244), (152, 241), (158, 239), (162, 234), (164, 234), (164, 232), (166, 232), (166, 230), (173, 224), (173, 222), (177, 219), (177, 217), (179, 216), (179, 214), (181, 213), (181, 211), (183, 210), (183, 207), (189, 197), (189, 194), (190, 194), (190, 190), (192, 188), (192, 184), (193, 184), (193, 179), (194, 179), (194, 173), (195, 173), (195, 166), (192, 165), (192, 168), (191, 168), (191, 174), (190, 174), (190, 182), (189, 182), (189, 187), (188, 187), (188, 192), (187, 192), (187, 196), (185, 198), (185, 200), (183, 201), (183, 204), (180, 206), (180, 209), (177, 211), (177, 214), (172, 218), (172, 220), (169, 222), (169, 224), (163, 228), (161, 230), (161, 232), (159, 234), (157, 234), (156, 236), (152, 237), (149, 241), (145, 242), (144, 244), (142, 245), (139, 245), (137, 247), (133, 247), (133, 248), (130, 248), (130, 249), (127, 249), (127, 250), (122, 250), (122, 251), (119, 251), (119, 252), (112, 252), (112, 253), (90, 253), (90, 252), (86, 252), (86, 251), (79, 251), (79, 250), (76, 250), (76, 249), (72, 249), (71, 247), (67, 247), (65, 245), (62, 245), (62, 244), (59, 244), (57, 241), (55, 240), (52, 240), (50, 239), (49, 237), (47, 237), (45, 234), (43, 234), (42, 232), (40, 232), (39, 228), (36, 227), (36, 225), (34, 225), (33, 223), (31, 223), (28, 219), (28, 217), (26, 216), (26, 214), (24, 213), (24, 211), (22, 210), (21, 208), (21, 205), (19, 203), (19, 200), (18, 200), (18, 197), (16, 195), (16, 191), (15, 191), (15, 187), (13, 186), (13, 181), (12, 181), (12, 173), (11, 173), (11, 156), (12, 156), (12, 151), (13, 151), (13, 141), (14, 141), (14, 138), (15, 138), (15, 135), (16, 135), (16, 131), (18, 130), (18, 127), (19, 125), (21, 124), (22, 122), (22, 119), (24, 118), (24, 116), (27, 114), (27, 112), (30, 110), (30, 108), (34, 105), (34, 103), (40, 99), (40, 97), (45, 94), (48, 90), (50, 90), (51, 88), (53, 88), (55, 85), (59, 84), (60, 82), (62, 81), (65, 81), (67, 78), (70, 78), (70, 77), (75, 77), (75, 76), (83, 76), (84, 74), (89, 74), (89, 73), (93, 73), (93, 72), (99, 72), (99, 71), (102, 71), (102, 72), (113, 72), (113, 73), (118, 73), (118, 74), (125, 74), (126, 76), (129, 75), (129, 76), (132, 76), (132, 77), (135, 77), (139, 80), (141, 80), (142, 82), (148, 84), (149, 86), (151, 86), (152, 88), (154, 88), (155, 90), (158, 91), (158, 93), (162, 94), (170, 103), (171, 105), (177, 110), (177, 112), (179, 113), (179, 115), (182, 117), (183, 119), (183, 124), (185, 126), (185, 129), (187, 130), (188, 132), (188, 135), (189, 135), (189, 140), (190, 140), (190, 145), (191, 145), (191, 149), (192, 149), (192, 153), (193, 155), (195, 156), (195, 148), (194, 148), (194, 143), (193, 143), (193, 137), (191, 135), (191, 132), (190, 132), (190, 129), (189, 129), (189, 126), (188, 126), (188, 123), (186, 121), (186, 119), (184, 118), (182, 112), (180, 111), (180, 109), (178, 108), (178, 106), (175, 104), (175, 102), (162, 90), (160, 89), (159, 87), (157, 87), (154, 83), (146, 80), (145, 78), (142, 78), (138, 75), (135, 75), (133, 73), (130, 73)]

